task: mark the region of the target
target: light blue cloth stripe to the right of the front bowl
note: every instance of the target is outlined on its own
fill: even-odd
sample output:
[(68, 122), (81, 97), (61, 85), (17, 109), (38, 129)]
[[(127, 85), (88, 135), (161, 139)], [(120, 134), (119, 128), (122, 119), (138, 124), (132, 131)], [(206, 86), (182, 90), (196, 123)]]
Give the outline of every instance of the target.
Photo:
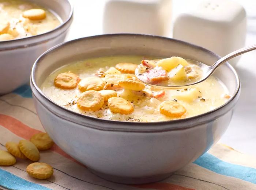
[(218, 174), (242, 179), (256, 184), (256, 169), (224, 162), (211, 154), (200, 156), (195, 162), (198, 166), (214, 171)]

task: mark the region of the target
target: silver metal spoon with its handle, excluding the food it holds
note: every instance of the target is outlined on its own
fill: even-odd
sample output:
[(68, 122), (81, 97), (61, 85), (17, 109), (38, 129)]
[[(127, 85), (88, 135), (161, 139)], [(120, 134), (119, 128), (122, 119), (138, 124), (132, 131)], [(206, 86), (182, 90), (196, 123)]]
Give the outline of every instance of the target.
[(199, 61), (194, 61), (194, 60), (191, 60), (191, 59), (186, 59), (186, 61), (188, 61), (189, 63), (193, 63), (193, 64), (199, 66), (200, 69), (202, 69), (202, 71), (203, 71), (203, 75), (202, 75), (201, 78), (199, 78), (198, 81), (192, 81), (191, 84), (187, 84), (187, 85), (177, 85), (177, 86), (173, 86), (172, 85), (172, 86), (170, 86), (170, 85), (161, 84), (161, 83), (159, 83), (159, 84), (149, 83), (148, 81), (145, 81), (143, 77), (141, 77), (141, 74), (138, 72), (139, 71), (138, 67), (135, 70), (135, 75), (136, 75), (136, 77), (140, 81), (142, 81), (143, 83), (145, 83), (145, 84), (147, 84), (149, 86), (158, 87), (158, 88), (164, 88), (164, 89), (187, 88), (189, 86), (193, 86), (193, 85), (196, 85), (196, 84), (198, 84), (200, 82), (205, 81), (207, 78), (209, 78), (212, 75), (212, 73), (218, 68), (218, 66), (222, 65), (222, 63), (225, 63), (229, 59), (232, 59), (234, 57), (237, 57), (238, 55), (244, 54), (244, 53), (252, 51), (252, 50), (256, 50), (256, 44), (254, 44), (252, 46), (248, 46), (248, 47), (243, 47), (243, 48), (241, 48), (239, 50), (233, 51), (232, 53), (227, 54), (226, 56), (224, 56), (221, 59), (219, 59), (217, 62), (215, 62), (211, 66), (208, 66), (208, 65), (206, 65), (204, 63), (201, 63)]

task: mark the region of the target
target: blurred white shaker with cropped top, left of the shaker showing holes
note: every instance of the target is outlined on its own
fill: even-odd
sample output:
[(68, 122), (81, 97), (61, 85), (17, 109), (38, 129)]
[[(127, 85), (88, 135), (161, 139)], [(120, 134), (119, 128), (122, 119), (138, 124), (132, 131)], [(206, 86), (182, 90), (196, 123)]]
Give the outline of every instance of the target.
[(169, 36), (172, 0), (108, 0), (103, 33), (139, 33)]

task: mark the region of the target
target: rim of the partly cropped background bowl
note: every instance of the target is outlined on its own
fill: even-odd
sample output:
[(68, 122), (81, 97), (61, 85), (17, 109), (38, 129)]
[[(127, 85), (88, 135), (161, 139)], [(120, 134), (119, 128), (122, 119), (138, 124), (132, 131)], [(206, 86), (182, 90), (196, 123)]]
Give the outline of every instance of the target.
[[(59, 26), (57, 26), (53, 30), (44, 32), (42, 34), (38, 34), (38, 35), (34, 35), (34, 36), (29, 36), (29, 37), (25, 37), (25, 38), (13, 39), (13, 40), (0, 41), (0, 45), (1, 46), (4, 46), (7, 43), (8, 43), (8, 45), (10, 45), (10, 43), (13, 44), (12, 46), (7, 47), (7, 48), (3, 48), (3, 49), (0, 48), (0, 51), (2, 51), (2, 50), (3, 51), (4, 50), (9, 50), (9, 49), (17, 49), (17, 48), (21, 48), (21, 47), (24, 47), (24, 46), (26, 46), (26, 47), (34, 46), (36, 44), (44, 43), (45, 41), (48, 41), (49, 39), (39, 40), (39, 38), (41, 38), (42, 36), (45, 36), (45, 35), (52, 34), (52, 33), (56, 32), (57, 30), (60, 30), (60, 29), (64, 28), (70, 22), (70, 20), (72, 20), (73, 13), (74, 13), (74, 5), (70, 2), (70, 0), (64, 0), (64, 1), (67, 1), (67, 3), (70, 6), (70, 12), (69, 12), (68, 18), (67, 18), (67, 20), (65, 20), (65, 22), (61, 23)], [(27, 40), (37, 40), (37, 41), (34, 42), (34, 43), (26, 44)], [(24, 43), (24, 44), (23, 45), (19, 45), (19, 46), (15, 46), (15, 43)]]

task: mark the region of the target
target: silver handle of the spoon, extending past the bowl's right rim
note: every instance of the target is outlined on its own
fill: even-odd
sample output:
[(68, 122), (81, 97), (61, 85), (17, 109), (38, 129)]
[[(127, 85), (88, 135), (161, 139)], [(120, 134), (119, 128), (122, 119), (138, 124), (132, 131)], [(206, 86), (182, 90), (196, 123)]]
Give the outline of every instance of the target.
[(256, 50), (256, 44), (253, 44), (251, 46), (247, 46), (247, 47), (243, 47), (239, 50), (233, 51), (230, 54), (227, 54), (226, 56), (224, 56), (223, 58), (219, 59), (218, 61), (216, 61), (211, 67), (212, 69), (212, 73), (213, 71), (215, 71), (215, 69), (221, 65), (222, 63), (225, 63), (226, 61), (228, 61), (229, 59), (232, 59), (234, 57), (237, 57), (238, 55), (244, 54), (248, 51), (252, 51), (252, 50)]

